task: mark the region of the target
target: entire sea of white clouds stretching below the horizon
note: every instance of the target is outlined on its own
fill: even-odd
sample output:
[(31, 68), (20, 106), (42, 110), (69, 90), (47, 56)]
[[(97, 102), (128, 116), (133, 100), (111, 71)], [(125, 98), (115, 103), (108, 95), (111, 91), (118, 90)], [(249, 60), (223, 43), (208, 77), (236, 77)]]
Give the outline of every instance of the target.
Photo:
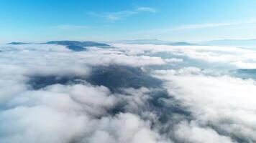
[[(140, 69), (161, 84), (113, 92), (86, 80), (95, 67), (113, 65)], [(256, 142), (256, 72), (243, 77), (237, 69), (256, 69), (255, 49), (1, 45), (0, 142)], [(76, 81), (35, 88), (35, 77)]]

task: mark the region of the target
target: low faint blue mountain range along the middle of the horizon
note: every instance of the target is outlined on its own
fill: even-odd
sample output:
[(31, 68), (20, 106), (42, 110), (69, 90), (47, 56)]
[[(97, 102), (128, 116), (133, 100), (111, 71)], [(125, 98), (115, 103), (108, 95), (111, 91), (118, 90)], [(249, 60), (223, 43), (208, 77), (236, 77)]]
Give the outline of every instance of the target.
[(172, 46), (189, 46), (196, 45), (192, 43), (188, 43), (185, 41), (163, 41), (157, 39), (137, 39), (137, 40), (119, 40), (119, 41), (111, 41), (111, 43), (121, 43), (121, 44), (166, 44)]

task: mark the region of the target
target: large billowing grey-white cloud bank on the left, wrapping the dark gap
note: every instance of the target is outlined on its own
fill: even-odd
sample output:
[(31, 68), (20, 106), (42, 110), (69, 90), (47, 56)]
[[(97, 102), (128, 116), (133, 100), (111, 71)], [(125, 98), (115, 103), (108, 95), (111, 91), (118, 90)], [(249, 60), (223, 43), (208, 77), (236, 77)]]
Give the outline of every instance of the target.
[[(74, 52), (65, 46), (47, 44), (4, 46), (2, 50), (0, 142), (164, 141), (158, 132), (150, 129), (150, 121), (132, 113), (108, 114), (119, 102), (133, 101), (140, 106), (144, 98), (116, 97), (106, 87), (86, 82), (52, 84), (42, 89), (32, 89), (27, 83), (34, 76), (87, 77), (91, 66), (149, 66), (165, 64), (163, 59), (96, 47)], [(132, 107), (127, 105), (127, 109)]]

